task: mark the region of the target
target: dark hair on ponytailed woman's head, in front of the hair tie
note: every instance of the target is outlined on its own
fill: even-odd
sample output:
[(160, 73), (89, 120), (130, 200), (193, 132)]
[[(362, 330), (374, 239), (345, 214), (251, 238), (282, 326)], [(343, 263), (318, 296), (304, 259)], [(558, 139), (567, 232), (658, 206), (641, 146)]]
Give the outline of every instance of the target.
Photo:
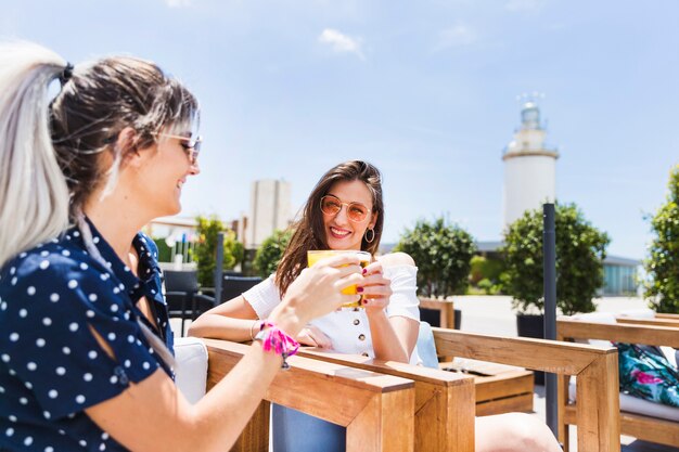
[[(71, 193), (72, 218), (93, 188), (115, 185), (126, 153), (151, 146), (162, 128), (197, 122), (197, 101), (179, 81), (154, 63), (134, 57), (108, 57), (76, 70), (50, 108), (52, 143)], [(126, 127), (134, 138), (115, 148)], [(102, 151), (113, 151), (113, 164), (102, 165)]]

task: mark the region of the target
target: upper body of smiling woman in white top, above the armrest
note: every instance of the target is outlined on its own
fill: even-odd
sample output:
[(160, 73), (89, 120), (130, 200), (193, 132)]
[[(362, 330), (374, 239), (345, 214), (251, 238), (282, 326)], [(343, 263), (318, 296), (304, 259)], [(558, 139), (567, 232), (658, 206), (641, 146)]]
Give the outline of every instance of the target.
[[(402, 253), (375, 257), (384, 224), (382, 177), (351, 160), (325, 172), (309, 195), (276, 274), (213, 308), (190, 327), (194, 336), (247, 340), (307, 267), (307, 251), (363, 250), (373, 261), (358, 284), (362, 309), (342, 309), (306, 325), (299, 343), (381, 360), (411, 361), (418, 340), (417, 268)], [(417, 362), (415, 357), (412, 357)]]

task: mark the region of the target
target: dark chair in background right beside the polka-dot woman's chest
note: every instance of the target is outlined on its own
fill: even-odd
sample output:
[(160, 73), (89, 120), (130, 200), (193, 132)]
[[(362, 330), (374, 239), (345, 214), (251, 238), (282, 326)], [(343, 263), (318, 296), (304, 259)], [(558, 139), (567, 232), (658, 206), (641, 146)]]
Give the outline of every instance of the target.
[(187, 319), (195, 320), (202, 312), (215, 306), (214, 298), (198, 292), (196, 271), (165, 270), (163, 275), (168, 315), (181, 319), (183, 336)]

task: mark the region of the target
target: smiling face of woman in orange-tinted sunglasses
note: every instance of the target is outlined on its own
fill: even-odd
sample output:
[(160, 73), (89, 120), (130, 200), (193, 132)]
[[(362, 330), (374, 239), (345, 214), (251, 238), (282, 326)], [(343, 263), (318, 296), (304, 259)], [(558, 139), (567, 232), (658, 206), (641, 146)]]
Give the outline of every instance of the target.
[[(340, 199), (342, 208), (334, 215), (324, 214), (323, 230), (330, 249), (361, 249), (363, 234), (369, 228), (374, 228), (377, 215), (372, 212), (372, 196), (368, 186), (359, 180), (341, 181), (334, 183), (329, 195)], [(370, 211), (360, 222), (351, 221), (347, 215), (348, 204), (362, 204)], [(320, 206), (319, 206), (320, 210)]]

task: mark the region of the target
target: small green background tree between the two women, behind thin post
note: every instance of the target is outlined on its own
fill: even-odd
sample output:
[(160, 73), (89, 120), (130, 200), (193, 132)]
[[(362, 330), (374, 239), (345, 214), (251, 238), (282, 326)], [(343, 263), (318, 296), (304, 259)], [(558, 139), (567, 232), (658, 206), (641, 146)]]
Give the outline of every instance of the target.
[(212, 286), (217, 267), (217, 234), (225, 232), (222, 270), (230, 270), (243, 260), (243, 244), (217, 216), (198, 216), (196, 221), (198, 241), (193, 253), (198, 267), (198, 283), (202, 286)]

